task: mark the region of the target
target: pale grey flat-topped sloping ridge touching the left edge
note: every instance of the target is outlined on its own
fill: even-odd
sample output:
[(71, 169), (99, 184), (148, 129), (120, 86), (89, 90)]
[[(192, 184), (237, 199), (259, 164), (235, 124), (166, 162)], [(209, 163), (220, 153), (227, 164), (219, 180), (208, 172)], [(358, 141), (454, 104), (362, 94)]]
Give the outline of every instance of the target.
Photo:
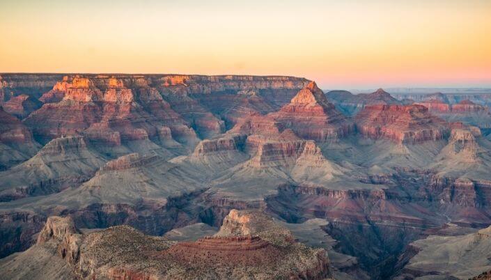
[(54, 139), (30, 160), (1, 172), (0, 201), (52, 194), (78, 185), (104, 162), (82, 137)]

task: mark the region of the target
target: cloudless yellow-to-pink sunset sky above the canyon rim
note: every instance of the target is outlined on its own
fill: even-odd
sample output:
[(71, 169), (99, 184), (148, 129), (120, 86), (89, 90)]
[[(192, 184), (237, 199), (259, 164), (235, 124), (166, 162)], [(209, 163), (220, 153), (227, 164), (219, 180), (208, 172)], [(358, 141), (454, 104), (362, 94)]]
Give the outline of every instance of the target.
[(0, 72), (491, 86), (489, 0), (0, 0), (0, 34)]

